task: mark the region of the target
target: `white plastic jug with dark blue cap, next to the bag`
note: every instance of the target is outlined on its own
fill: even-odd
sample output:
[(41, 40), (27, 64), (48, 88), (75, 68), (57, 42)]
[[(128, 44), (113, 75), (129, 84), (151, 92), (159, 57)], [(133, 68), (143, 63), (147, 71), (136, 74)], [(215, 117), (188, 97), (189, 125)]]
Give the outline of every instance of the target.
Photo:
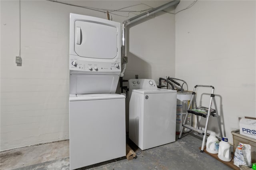
[(227, 137), (222, 137), (222, 141), (220, 141), (218, 158), (225, 162), (230, 162), (231, 160), (230, 144)]

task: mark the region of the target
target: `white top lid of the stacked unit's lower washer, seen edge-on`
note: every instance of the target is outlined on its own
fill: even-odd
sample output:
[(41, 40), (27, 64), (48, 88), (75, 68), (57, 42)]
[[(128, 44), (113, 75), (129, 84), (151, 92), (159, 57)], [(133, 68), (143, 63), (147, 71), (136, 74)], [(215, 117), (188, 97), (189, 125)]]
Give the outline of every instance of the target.
[(84, 94), (84, 95), (69, 95), (69, 101), (87, 101), (87, 100), (103, 100), (103, 99), (123, 99), (124, 95), (120, 94)]

